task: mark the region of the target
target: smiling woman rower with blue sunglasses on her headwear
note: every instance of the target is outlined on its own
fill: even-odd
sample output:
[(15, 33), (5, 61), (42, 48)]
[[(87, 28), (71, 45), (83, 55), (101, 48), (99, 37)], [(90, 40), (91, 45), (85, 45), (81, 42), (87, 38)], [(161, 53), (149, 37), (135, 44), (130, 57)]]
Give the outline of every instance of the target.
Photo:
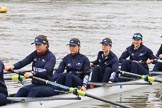
[[(132, 45), (127, 47), (119, 58), (121, 70), (140, 75), (148, 75), (148, 64), (156, 57), (151, 49), (143, 45), (141, 33), (134, 33)], [(129, 59), (127, 59), (129, 57)]]

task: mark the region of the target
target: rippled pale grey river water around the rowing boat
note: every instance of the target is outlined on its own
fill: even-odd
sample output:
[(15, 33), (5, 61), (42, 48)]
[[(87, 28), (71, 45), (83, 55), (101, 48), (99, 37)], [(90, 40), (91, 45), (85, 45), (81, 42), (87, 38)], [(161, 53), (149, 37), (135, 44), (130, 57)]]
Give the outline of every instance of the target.
[[(73, 37), (80, 38), (81, 53), (90, 61), (96, 58), (101, 50), (99, 43), (105, 37), (112, 38), (112, 51), (118, 57), (131, 44), (135, 32), (143, 34), (144, 44), (154, 54), (161, 44), (160, 0), (0, 0), (1, 6), (8, 8), (6, 14), (0, 13), (0, 59), (5, 65), (32, 52), (31, 43), (40, 34), (48, 36), (50, 50), (57, 58), (56, 68), (69, 53), (66, 44)], [(30, 65), (24, 69), (29, 68)], [(158, 87), (154, 91), (159, 92)], [(90, 108), (89, 104), (82, 108)]]

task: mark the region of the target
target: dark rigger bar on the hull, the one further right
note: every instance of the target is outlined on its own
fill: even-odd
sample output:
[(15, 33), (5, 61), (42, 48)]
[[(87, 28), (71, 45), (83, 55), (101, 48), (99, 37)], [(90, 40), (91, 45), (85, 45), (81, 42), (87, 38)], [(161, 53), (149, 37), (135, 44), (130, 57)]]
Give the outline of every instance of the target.
[(121, 86), (121, 85), (152, 85), (151, 83), (140, 83), (140, 82), (119, 82), (119, 83), (100, 83), (100, 82), (88, 82), (88, 84), (93, 84), (96, 86)]

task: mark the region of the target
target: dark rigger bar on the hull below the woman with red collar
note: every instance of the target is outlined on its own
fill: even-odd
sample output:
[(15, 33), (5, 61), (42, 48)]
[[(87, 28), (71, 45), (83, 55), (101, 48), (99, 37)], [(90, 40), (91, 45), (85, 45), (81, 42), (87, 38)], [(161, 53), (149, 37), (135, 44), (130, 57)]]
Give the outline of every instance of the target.
[(80, 97), (7, 97), (8, 100), (17, 102), (34, 102), (34, 101), (49, 101), (49, 100), (81, 100)]

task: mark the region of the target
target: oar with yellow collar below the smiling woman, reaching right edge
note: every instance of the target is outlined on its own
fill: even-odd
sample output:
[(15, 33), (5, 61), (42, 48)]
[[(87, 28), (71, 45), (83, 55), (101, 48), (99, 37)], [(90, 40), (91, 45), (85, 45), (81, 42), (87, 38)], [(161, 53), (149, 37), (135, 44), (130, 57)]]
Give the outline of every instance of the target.
[(147, 81), (147, 82), (160, 82), (160, 83), (162, 83), (162, 80), (156, 79), (155, 77), (151, 77), (151, 76), (147, 76), (147, 75), (134, 74), (134, 73), (126, 72), (126, 71), (119, 71), (119, 72), (123, 75), (130, 75), (130, 76), (133, 76), (133, 77), (136, 77), (136, 78), (141, 78), (141, 79), (143, 79), (144, 81)]

